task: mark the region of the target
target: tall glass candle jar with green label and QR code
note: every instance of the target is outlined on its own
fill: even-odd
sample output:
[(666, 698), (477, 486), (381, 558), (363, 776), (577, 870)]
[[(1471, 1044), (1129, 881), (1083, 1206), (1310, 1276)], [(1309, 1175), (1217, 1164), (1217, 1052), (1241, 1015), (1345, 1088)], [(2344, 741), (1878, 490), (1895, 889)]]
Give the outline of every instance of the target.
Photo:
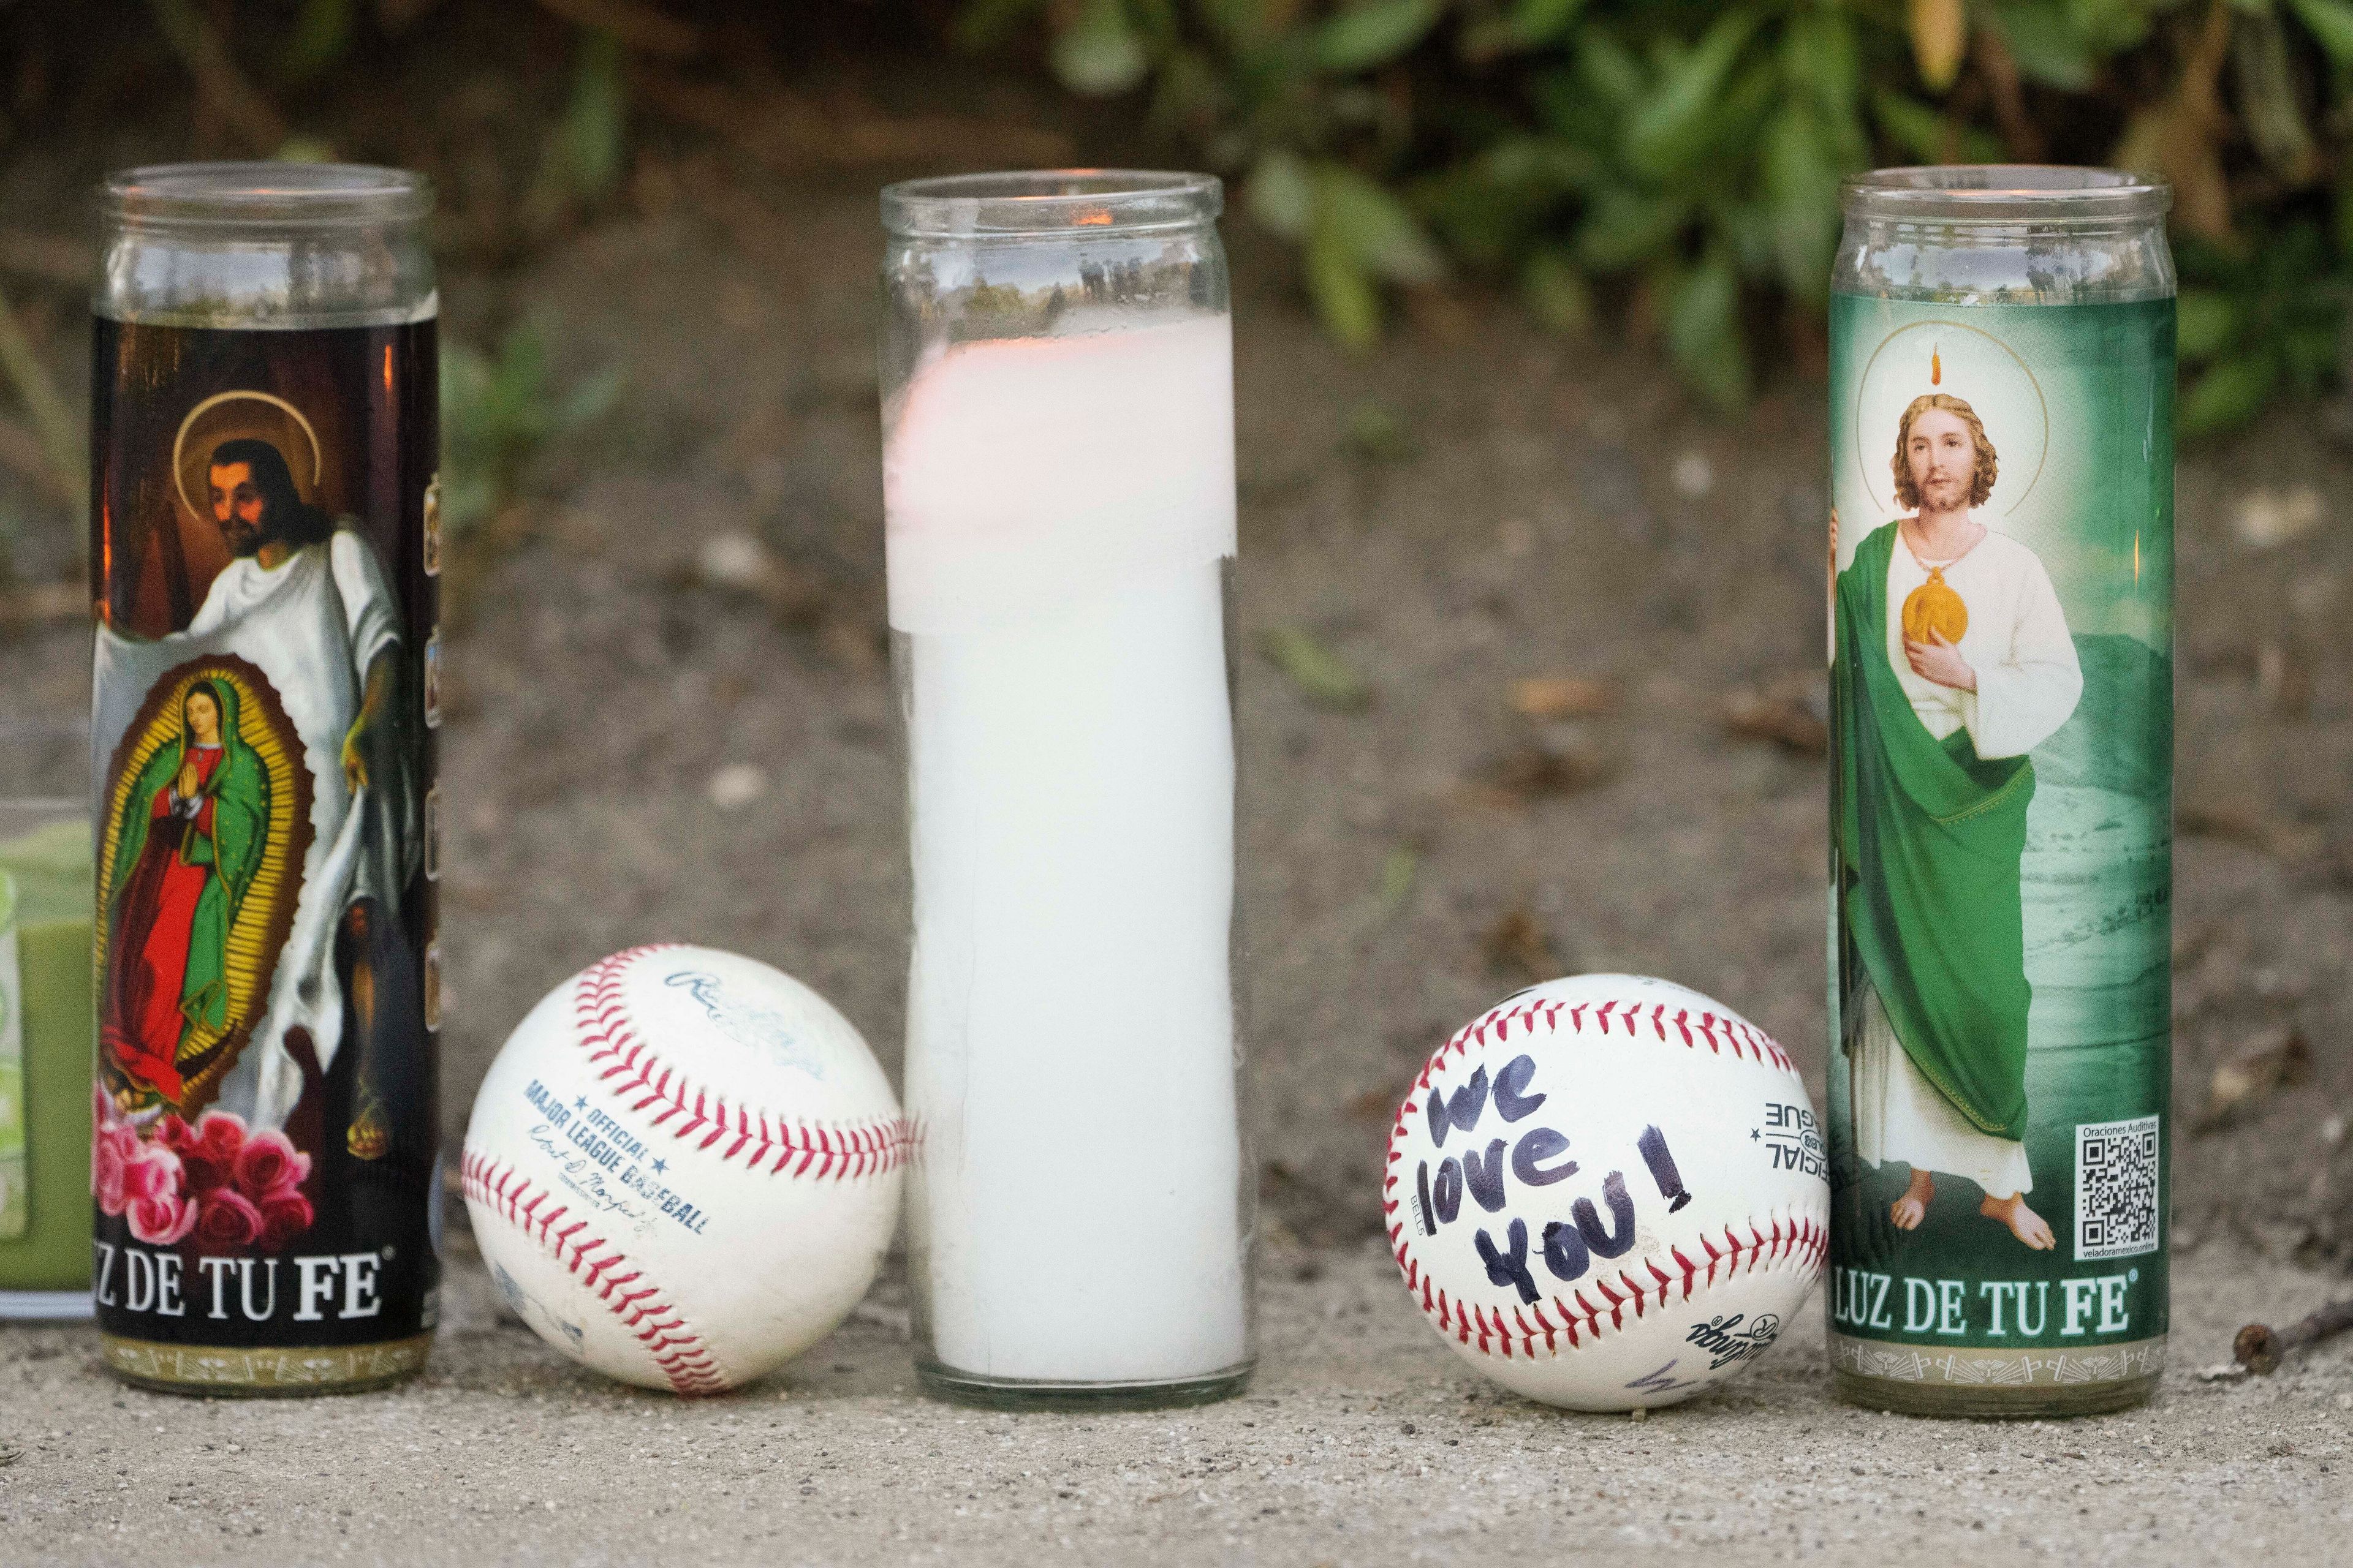
[(2165, 1366), (2162, 181), (1885, 169), (1831, 294), (1831, 1359), (2071, 1415)]

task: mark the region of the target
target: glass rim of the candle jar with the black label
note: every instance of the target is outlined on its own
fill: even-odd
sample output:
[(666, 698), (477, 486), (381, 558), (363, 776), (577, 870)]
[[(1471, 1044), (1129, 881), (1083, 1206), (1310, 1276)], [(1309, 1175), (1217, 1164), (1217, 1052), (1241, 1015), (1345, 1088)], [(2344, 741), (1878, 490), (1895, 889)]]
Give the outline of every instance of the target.
[(99, 186), (120, 228), (374, 228), (433, 212), (433, 181), (360, 162), (158, 162)]

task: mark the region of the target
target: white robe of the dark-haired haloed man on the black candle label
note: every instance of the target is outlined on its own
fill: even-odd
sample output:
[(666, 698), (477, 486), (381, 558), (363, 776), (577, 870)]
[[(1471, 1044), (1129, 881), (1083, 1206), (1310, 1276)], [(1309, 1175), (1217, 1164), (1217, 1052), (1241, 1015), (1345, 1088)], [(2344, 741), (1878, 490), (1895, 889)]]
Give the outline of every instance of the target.
[[(334, 973), (344, 912), (365, 896), (376, 900), (381, 919), (398, 919), (400, 891), (416, 870), (414, 780), (407, 759), (393, 759), (398, 748), (369, 752), (367, 788), (344, 783), (344, 736), (360, 715), (367, 670), (400, 646), (400, 599), (353, 520), (341, 520), (325, 543), (299, 545), (275, 569), (249, 555), (228, 562), (184, 632), (141, 642), (99, 625), (89, 745), (101, 790), (113, 785), (106, 769), (148, 691), (191, 658), (235, 654), (259, 665), (301, 741), (311, 849), (294, 929), (278, 950), (268, 1006), (221, 1077), (216, 1100), (249, 1126), (285, 1126), (301, 1098), (287, 1030), (311, 1032), (320, 1072), (334, 1063), (344, 1039), (344, 987)], [(398, 715), (388, 708), (376, 724), (398, 724)]]

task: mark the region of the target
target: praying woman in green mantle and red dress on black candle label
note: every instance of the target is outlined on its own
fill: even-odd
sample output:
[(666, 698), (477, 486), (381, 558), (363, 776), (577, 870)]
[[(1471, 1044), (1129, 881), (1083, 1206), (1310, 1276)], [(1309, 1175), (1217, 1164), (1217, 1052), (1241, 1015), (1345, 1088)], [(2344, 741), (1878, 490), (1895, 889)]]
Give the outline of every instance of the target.
[(228, 929), (268, 825), (271, 780), (238, 738), (235, 686), (193, 682), (176, 738), (132, 780), (108, 877), (99, 1048), (134, 1093), (176, 1105), (184, 1048), (228, 1032)]

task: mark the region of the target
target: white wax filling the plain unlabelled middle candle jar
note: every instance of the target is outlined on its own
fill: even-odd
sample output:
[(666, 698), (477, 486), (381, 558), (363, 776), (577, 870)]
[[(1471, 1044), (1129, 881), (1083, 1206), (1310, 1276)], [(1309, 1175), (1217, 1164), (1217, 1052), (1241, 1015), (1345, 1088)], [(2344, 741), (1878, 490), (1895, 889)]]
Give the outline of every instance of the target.
[(1179, 1380), (1247, 1349), (1224, 320), (927, 364), (885, 433), (932, 1349)]

